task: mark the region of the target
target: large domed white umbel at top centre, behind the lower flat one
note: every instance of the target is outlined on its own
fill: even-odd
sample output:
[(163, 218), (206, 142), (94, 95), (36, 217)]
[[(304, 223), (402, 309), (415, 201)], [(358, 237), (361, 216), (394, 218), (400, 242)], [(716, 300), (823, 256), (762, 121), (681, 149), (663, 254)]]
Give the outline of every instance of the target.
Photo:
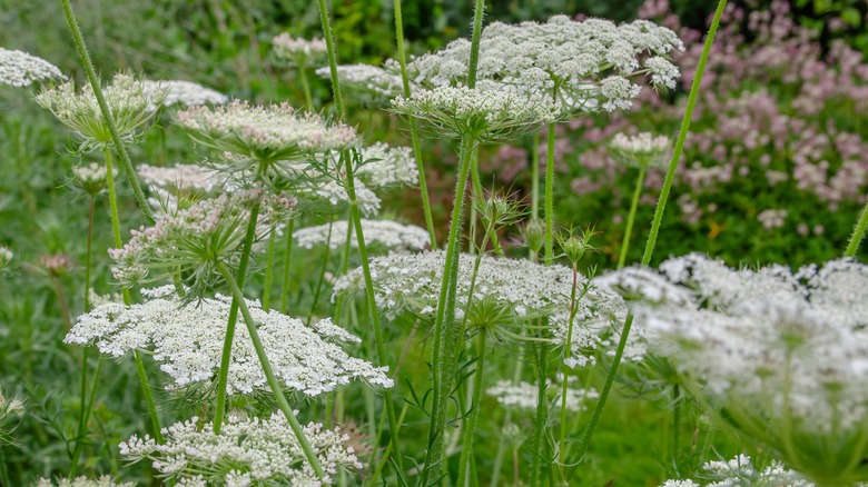
[[(554, 90), (559, 99), (596, 87), (602, 108), (612, 111), (629, 108), (639, 95), (632, 77), (650, 74), (654, 86), (674, 88), (679, 70), (667, 56), (683, 49), (672, 30), (647, 20), (615, 26), (555, 16), (545, 23), (493, 22), (482, 32), (477, 74), (531, 92)], [(471, 42), (458, 39), (407, 69), (416, 83), (453, 85), (466, 78), (470, 54)]]

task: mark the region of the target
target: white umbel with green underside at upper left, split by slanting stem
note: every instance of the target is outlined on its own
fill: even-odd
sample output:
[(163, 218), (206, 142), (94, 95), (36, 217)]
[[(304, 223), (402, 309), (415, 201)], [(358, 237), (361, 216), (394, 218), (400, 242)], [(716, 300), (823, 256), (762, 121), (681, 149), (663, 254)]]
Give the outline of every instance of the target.
[[(111, 83), (102, 87), (102, 95), (122, 139), (132, 139), (154, 116), (148, 110), (150, 101), (145, 95), (142, 82), (129, 74), (115, 74)], [(80, 92), (76, 92), (76, 85), (69, 81), (40, 91), (36, 101), (51, 110), (58, 120), (81, 137), (82, 150), (101, 149), (112, 143), (109, 125), (102, 117), (90, 85), (85, 85)]]

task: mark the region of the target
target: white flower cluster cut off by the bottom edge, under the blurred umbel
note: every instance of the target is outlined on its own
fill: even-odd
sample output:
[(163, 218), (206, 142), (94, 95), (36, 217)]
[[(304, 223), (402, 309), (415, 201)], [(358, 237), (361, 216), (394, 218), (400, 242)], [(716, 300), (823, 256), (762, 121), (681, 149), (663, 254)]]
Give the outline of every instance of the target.
[[(746, 455), (728, 461), (708, 461), (702, 469), (702, 477), (712, 480), (706, 487), (815, 487), (812, 481), (803, 479), (778, 461), (757, 470)], [(701, 484), (690, 479), (667, 480), (661, 487), (701, 487)]]

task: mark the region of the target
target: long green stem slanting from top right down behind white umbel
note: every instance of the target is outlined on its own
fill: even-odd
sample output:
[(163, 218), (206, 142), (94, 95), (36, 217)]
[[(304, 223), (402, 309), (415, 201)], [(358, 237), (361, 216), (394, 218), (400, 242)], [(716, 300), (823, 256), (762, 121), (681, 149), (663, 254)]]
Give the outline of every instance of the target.
[[(669, 161), (669, 170), (667, 171), (665, 180), (663, 181), (663, 189), (660, 191), (660, 198), (657, 201), (657, 209), (654, 210), (654, 220), (651, 223), (651, 232), (648, 236), (648, 241), (645, 242), (645, 251), (642, 256), (642, 266), (648, 266), (651, 262), (651, 256), (654, 252), (654, 245), (657, 244), (657, 236), (660, 232), (660, 223), (663, 221), (663, 210), (665, 209), (667, 199), (669, 198), (669, 191), (672, 188), (672, 181), (675, 178), (675, 169), (678, 168), (678, 161), (681, 159), (681, 151), (684, 148), (684, 140), (687, 139), (687, 135), (690, 131), (690, 121), (691, 117), (693, 116), (693, 107), (697, 105), (697, 97), (699, 96), (699, 88), (702, 83), (702, 73), (706, 70), (706, 63), (708, 62), (709, 52), (711, 51), (711, 46), (714, 42), (714, 34), (718, 31), (718, 26), (720, 26), (720, 18), (723, 16), (723, 9), (727, 7), (727, 0), (720, 0), (718, 2), (718, 8), (714, 11), (714, 17), (711, 19), (711, 27), (709, 27), (708, 36), (706, 37), (706, 44), (702, 48), (702, 56), (699, 58), (699, 63), (697, 64), (697, 73), (693, 78), (693, 85), (690, 88), (690, 95), (688, 96), (688, 105), (684, 110), (684, 117), (681, 119), (681, 130), (678, 133), (678, 140), (675, 141), (675, 148), (672, 152), (672, 159)], [(627, 347), (627, 339), (630, 335), (630, 328), (633, 325), (633, 315), (628, 314), (627, 320), (624, 321), (624, 327), (621, 329), (621, 339), (618, 342), (618, 348), (615, 349), (615, 355), (612, 358), (612, 365), (609, 369), (609, 375), (605, 377), (605, 382), (603, 384), (603, 389), (600, 391), (600, 398), (596, 401), (596, 406), (594, 407), (593, 413), (591, 414), (591, 419), (588, 424), (588, 428), (585, 428), (584, 436), (582, 437), (582, 441), (579, 445), (579, 449), (576, 450), (574, 461), (573, 464), (576, 464), (581, 461), (584, 454), (588, 451), (588, 447), (591, 444), (591, 438), (593, 437), (594, 429), (596, 428), (598, 423), (600, 423), (600, 417), (602, 416), (603, 408), (605, 407), (606, 399), (609, 398), (609, 392), (612, 389), (612, 384), (614, 382), (615, 375), (618, 374), (618, 366), (621, 364), (621, 357), (624, 355), (624, 348)], [(574, 473), (575, 469), (571, 469), (571, 474)]]

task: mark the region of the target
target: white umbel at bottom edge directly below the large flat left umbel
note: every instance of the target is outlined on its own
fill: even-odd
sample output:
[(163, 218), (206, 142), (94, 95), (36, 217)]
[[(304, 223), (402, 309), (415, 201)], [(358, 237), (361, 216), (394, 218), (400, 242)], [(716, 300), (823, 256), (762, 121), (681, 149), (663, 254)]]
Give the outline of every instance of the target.
[[(188, 485), (331, 485), (338, 469), (362, 468), (349, 440), (339, 429), (326, 429), (310, 423), (304, 435), (317, 454), (326, 478), (317, 479), (302, 446), (286, 418), (275, 413), (270, 418), (240, 420), (230, 417), (215, 435), (211, 423), (198, 417), (164, 428), (164, 444), (145, 436), (130, 437), (120, 444), (120, 455), (128, 460), (150, 459), (166, 478), (193, 480)], [(179, 484), (184, 485), (184, 484)]]

